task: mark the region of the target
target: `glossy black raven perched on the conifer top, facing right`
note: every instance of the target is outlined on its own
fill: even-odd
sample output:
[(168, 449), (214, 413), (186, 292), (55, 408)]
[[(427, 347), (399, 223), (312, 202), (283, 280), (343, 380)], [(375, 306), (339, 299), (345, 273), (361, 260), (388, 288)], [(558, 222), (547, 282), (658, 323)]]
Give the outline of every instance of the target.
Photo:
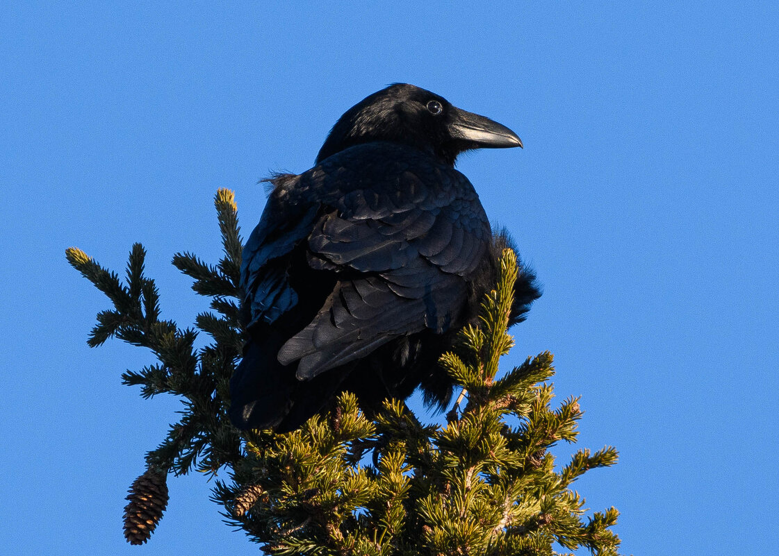
[[(271, 178), (243, 251), (250, 339), (230, 383), (234, 425), (291, 431), (344, 390), (372, 411), (421, 385), (443, 407), (453, 384), (436, 361), (477, 318), (508, 242), (454, 162), (521, 146), (501, 124), (394, 84), (340, 117), (311, 170)], [(540, 295), (522, 270), (513, 322)]]

